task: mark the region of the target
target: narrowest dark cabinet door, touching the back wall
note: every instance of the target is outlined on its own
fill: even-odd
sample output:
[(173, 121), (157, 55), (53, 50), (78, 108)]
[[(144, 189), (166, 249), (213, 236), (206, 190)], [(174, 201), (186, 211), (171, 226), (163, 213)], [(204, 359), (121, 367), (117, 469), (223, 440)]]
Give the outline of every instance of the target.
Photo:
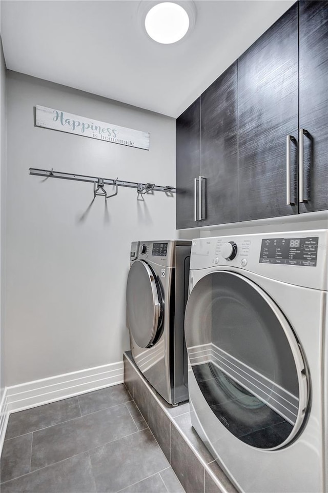
[(176, 120), (176, 227), (194, 220), (194, 180), (200, 174), (200, 97)]

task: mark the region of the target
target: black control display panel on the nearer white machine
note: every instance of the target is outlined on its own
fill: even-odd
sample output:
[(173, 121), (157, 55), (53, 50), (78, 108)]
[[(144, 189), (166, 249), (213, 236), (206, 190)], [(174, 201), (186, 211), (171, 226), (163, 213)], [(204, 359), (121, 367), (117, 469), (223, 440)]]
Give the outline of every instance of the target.
[(268, 238), (262, 240), (260, 263), (302, 265), (315, 267), (317, 265), (318, 236), (314, 238)]

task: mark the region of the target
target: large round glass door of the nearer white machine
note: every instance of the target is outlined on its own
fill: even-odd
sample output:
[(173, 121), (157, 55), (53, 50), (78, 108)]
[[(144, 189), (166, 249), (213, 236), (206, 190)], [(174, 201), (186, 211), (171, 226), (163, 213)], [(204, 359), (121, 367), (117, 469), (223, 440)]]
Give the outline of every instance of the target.
[(193, 288), (185, 318), (187, 350), (208, 405), (239, 440), (286, 445), (309, 401), (305, 364), (290, 324), (255, 283), (216, 271)]

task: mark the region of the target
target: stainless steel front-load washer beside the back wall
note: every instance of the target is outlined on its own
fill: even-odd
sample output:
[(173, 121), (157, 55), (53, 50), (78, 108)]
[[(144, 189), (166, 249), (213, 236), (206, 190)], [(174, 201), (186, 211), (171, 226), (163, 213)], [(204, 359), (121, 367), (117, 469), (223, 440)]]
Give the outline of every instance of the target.
[(188, 297), (190, 241), (133, 242), (127, 282), (132, 357), (170, 404), (188, 399), (183, 321)]

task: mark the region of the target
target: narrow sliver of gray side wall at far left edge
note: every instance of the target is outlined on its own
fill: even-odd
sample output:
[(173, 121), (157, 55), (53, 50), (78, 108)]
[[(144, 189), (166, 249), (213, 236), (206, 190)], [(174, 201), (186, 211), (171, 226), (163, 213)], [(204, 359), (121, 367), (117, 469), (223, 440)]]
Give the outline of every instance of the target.
[(6, 64), (0, 39), (0, 402), (5, 388)]

